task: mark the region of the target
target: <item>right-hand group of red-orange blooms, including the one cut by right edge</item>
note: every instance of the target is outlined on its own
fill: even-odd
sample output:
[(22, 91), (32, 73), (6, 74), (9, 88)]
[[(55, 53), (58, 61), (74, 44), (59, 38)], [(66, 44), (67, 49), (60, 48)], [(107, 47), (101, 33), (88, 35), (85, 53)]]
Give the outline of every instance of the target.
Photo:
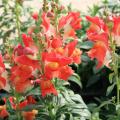
[(109, 17), (107, 23), (99, 17), (86, 16), (86, 19), (91, 22), (87, 36), (94, 42), (88, 56), (98, 60), (97, 68), (102, 65), (109, 67), (110, 59), (107, 59), (107, 55), (111, 53), (111, 37), (114, 43), (120, 43), (120, 17)]

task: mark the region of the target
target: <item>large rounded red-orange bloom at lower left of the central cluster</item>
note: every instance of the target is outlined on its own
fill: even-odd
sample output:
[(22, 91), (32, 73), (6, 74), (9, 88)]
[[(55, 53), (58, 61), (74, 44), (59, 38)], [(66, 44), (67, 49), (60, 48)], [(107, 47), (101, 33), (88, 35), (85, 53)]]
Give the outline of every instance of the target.
[(31, 87), (29, 78), (32, 76), (32, 67), (26, 65), (14, 66), (11, 69), (11, 83), (16, 92), (23, 93)]

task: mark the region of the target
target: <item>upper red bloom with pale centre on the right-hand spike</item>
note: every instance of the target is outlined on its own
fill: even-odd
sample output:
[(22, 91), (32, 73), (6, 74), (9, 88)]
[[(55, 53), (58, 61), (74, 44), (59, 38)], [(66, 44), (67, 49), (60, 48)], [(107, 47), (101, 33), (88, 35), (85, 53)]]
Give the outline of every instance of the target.
[(99, 17), (86, 16), (86, 19), (91, 22), (89, 29), (87, 30), (88, 38), (93, 41), (102, 41), (108, 45), (108, 27), (104, 21)]

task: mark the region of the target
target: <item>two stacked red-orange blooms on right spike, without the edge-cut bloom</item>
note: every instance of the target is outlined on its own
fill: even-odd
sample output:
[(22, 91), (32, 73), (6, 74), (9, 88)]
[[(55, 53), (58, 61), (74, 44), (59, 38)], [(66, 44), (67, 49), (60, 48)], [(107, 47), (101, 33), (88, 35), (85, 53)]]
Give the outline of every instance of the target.
[[(88, 51), (91, 59), (96, 58), (98, 61), (97, 69), (105, 65), (105, 58), (109, 49), (108, 26), (99, 17), (86, 17), (91, 22), (90, 28), (87, 30), (88, 38), (94, 42), (93, 48)], [(108, 63), (108, 62), (107, 62)]]

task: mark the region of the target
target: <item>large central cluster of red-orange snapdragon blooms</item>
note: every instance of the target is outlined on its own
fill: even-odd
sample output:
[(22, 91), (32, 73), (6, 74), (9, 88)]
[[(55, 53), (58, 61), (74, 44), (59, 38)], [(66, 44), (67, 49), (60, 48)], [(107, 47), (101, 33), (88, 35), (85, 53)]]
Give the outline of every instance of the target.
[[(73, 23), (75, 19), (78, 19), (76, 23)], [(35, 19), (36, 20), (36, 19)], [(80, 63), (81, 51), (76, 48), (77, 40), (75, 34), (76, 29), (80, 29), (79, 13), (71, 12), (67, 16), (60, 18), (59, 31), (64, 26), (68, 25), (67, 30), (68, 37), (73, 37), (74, 40), (65, 44), (65, 38), (60, 34), (51, 32), (50, 19), (47, 17), (47, 13), (42, 14), (42, 27), (44, 28), (41, 37), (44, 37), (44, 41), (38, 37), (38, 44), (34, 42), (31, 35), (22, 34), (24, 46), (18, 45), (14, 49), (13, 59), (15, 65), (11, 69), (11, 83), (15, 87), (15, 90), (22, 93), (29, 88), (33, 83), (39, 83), (41, 94), (43, 97), (46, 94), (53, 93), (57, 95), (57, 91), (52, 83), (53, 78), (60, 78), (67, 80), (70, 75), (73, 74), (73, 70), (68, 66), (69, 64)], [(68, 26), (67, 26), (68, 27)], [(72, 34), (71, 34), (72, 32)], [(64, 33), (66, 35), (66, 33)], [(43, 48), (42, 46), (43, 45)], [(38, 78), (34, 78), (33, 72), (39, 70), (40, 74)], [(35, 80), (34, 80), (35, 79)], [(21, 87), (22, 86), (22, 87)]]

